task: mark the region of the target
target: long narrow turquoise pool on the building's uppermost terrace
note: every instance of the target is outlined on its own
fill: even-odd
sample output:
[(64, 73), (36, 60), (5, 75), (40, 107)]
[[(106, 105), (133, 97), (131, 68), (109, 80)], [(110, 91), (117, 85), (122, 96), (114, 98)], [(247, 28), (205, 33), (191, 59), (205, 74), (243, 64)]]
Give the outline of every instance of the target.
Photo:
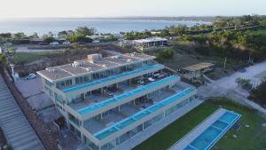
[(106, 77), (104, 79), (94, 80), (94, 81), (92, 81), (90, 83), (84, 83), (84, 84), (77, 85), (77, 86), (74, 86), (74, 87), (66, 88), (66, 89), (64, 89), (62, 91), (65, 92), (65, 93), (71, 92), (71, 91), (79, 91), (79, 90), (84, 89), (84, 88), (90, 88), (90, 86), (97, 85), (99, 83), (106, 83), (106, 82), (113, 81), (115, 79), (118, 79), (118, 78), (121, 78), (121, 77), (124, 77), (124, 76), (127, 76), (127, 75), (135, 75), (135, 74), (141, 73), (141, 72), (146, 71), (146, 70), (150, 70), (150, 69), (153, 69), (153, 68), (160, 69), (160, 68), (163, 68), (163, 67), (164, 66), (160, 65), (160, 64), (140, 67), (140, 68), (137, 68), (136, 70), (133, 70), (133, 71), (121, 73), (120, 75), (109, 76), (109, 77)]

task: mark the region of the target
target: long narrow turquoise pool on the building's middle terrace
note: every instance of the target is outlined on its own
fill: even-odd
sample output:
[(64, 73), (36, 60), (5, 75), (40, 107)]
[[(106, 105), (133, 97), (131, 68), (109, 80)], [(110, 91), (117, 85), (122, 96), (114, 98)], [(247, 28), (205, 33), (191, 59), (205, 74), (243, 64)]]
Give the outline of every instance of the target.
[(164, 84), (164, 83), (169, 83), (169, 82), (172, 82), (172, 81), (177, 81), (177, 80), (179, 80), (179, 78), (180, 77), (176, 76), (176, 75), (168, 76), (168, 77), (166, 77), (164, 79), (161, 79), (161, 80), (159, 80), (157, 82), (150, 83), (150, 84), (138, 87), (137, 89), (135, 89), (133, 91), (129, 91), (127, 93), (123, 93), (123, 94), (121, 94), (121, 95), (119, 95), (117, 97), (114, 97), (112, 99), (106, 99), (106, 100), (101, 101), (101, 102), (99, 102), (99, 103), (97, 103), (95, 105), (92, 105), (90, 107), (84, 107), (84, 108), (78, 110), (78, 113), (79, 114), (88, 114), (88, 113), (90, 113), (92, 111), (97, 110), (100, 107), (106, 107), (106, 106), (112, 105), (114, 102), (121, 101), (121, 100), (130, 98), (130, 97), (133, 97), (136, 94), (139, 94), (141, 92), (149, 91), (149, 90), (151, 90), (152, 88), (155, 88), (158, 85), (161, 85), (161, 84)]

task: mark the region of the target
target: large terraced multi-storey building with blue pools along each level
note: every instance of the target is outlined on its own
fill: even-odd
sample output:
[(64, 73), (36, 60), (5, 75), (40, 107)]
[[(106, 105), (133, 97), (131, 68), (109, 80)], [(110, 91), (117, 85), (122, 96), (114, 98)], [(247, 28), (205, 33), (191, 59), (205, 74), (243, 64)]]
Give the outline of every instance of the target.
[(153, 59), (92, 54), (37, 73), (68, 128), (90, 149), (127, 150), (200, 104), (195, 88)]

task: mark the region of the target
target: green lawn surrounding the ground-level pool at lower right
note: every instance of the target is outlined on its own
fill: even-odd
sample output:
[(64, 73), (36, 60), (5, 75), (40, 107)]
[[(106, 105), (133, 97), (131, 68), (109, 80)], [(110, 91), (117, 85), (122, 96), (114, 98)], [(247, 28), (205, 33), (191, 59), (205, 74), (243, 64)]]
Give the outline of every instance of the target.
[[(190, 113), (185, 114), (183, 117), (176, 120), (176, 122), (171, 123), (165, 129), (160, 130), (160, 132), (153, 137), (148, 138), (145, 142), (135, 147), (134, 150), (167, 149), (169, 146), (176, 143), (177, 140), (184, 137), (184, 135), (197, 126), (197, 124), (204, 121), (208, 115), (214, 113), (220, 106), (242, 114), (239, 120), (241, 129), (229, 130), (213, 149), (266, 149), (266, 127), (262, 127), (262, 123), (266, 122), (266, 118), (262, 118), (262, 116), (257, 114), (254, 110), (239, 106), (239, 104), (229, 99), (211, 99), (200, 105), (200, 107), (193, 109)], [(246, 128), (246, 124), (250, 125), (250, 128)], [(237, 135), (238, 138), (232, 138), (232, 135)]]

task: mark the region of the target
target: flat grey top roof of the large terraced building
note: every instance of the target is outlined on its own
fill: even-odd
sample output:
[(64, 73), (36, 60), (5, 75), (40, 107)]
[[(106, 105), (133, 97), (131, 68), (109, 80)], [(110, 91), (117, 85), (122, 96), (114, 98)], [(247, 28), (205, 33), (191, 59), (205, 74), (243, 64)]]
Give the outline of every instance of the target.
[(102, 58), (101, 54), (91, 54), (88, 55), (88, 59), (75, 60), (72, 64), (58, 67), (49, 67), (37, 73), (53, 82), (74, 75), (90, 74), (108, 68), (121, 67), (137, 61), (149, 59), (155, 59), (155, 57), (140, 53), (127, 53)]

